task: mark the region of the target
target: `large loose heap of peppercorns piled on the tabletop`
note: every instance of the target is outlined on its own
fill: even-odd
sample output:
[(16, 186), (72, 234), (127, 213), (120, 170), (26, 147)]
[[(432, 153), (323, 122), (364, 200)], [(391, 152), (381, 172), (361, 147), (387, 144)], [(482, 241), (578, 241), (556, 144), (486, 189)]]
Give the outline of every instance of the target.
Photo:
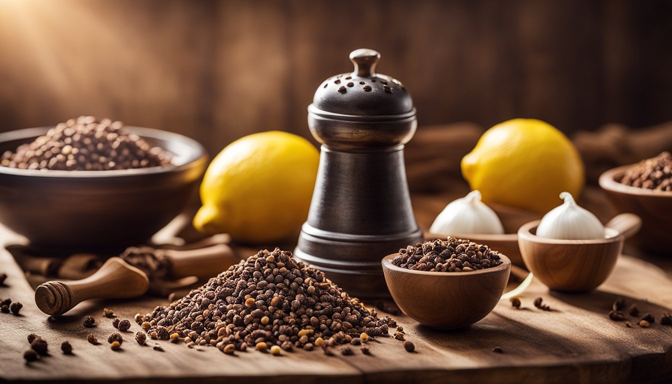
[(260, 251), (136, 321), (151, 338), (167, 340), (177, 333), (187, 344), (217, 346), (227, 353), (247, 346), (325, 348), (362, 333), (387, 335), (388, 327), (396, 326), (278, 248)]

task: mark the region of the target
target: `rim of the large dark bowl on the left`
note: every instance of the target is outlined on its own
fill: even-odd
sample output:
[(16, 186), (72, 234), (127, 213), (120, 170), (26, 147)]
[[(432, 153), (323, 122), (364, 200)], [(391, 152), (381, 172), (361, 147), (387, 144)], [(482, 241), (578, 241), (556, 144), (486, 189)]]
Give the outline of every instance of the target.
[[(9, 132), (0, 133), (0, 143), (5, 141), (13, 141), (20, 139), (29, 139), (31, 137), (39, 137), (44, 135), (44, 132), (55, 126), (37, 126), (33, 128), (24, 128), (17, 130), (10, 130)], [(194, 149), (194, 155), (192, 159), (187, 160), (182, 164), (168, 164), (160, 165), (158, 167), (146, 167), (146, 168), (132, 168), (132, 169), (110, 169), (105, 171), (62, 171), (62, 170), (53, 170), (53, 169), (20, 169), (12, 167), (4, 167), (0, 165), (0, 174), (13, 175), (13, 176), (37, 176), (42, 178), (119, 178), (127, 176), (140, 176), (140, 175), (152, 175), (152, 174), (165, 174), (171, 171), (180, 171), (182, 169), (193, 167), (194, 164), (205, 161), (208, 157), (205, 147), (198, 143), (198, 141), (180, 135), (179, 133), (169, 132), (167, 130), (155, 129), (155, 128), (146, 128), (142, 126), (130, 126), (126, 125), (124, 128), (129, 128), (129, 130), (140, 137), (151, 137), (155, 139), (163, 139), (165, 141), (175, 141), (187, 145), (188, 147)]]

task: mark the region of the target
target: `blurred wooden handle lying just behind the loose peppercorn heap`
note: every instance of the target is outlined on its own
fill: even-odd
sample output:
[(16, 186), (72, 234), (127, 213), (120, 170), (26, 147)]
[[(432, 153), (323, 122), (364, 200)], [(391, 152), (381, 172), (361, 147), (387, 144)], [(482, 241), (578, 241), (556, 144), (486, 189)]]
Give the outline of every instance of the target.
[(211, 278), (240, 261), (226, 244), (186, 251), (165, 249), (165, 255), (171, 261), (172, 278)]

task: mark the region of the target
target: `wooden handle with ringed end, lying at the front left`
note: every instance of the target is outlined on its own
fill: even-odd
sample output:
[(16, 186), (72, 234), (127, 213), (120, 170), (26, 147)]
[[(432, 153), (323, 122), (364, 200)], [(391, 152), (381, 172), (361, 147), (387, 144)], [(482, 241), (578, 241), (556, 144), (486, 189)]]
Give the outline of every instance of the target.
[(62, 315), (88, 299), (125, 299), (149, 289), (146, 274), (120, 258), (110, 258), (82, 280), (48, 281), (35, 291), (35, 303), (48, 315)]

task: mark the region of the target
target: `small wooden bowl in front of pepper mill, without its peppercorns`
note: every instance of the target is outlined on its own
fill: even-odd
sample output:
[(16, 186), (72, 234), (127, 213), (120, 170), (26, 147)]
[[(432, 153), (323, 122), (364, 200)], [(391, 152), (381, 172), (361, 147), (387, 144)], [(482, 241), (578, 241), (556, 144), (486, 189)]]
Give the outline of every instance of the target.
[(438, 330), (459, 330), (486, 317), (504, 293), (511, 260), (472, 272), (427, 272), (392, 264), (398, 254), (382, 260), (392, 299), (411, 319)]

